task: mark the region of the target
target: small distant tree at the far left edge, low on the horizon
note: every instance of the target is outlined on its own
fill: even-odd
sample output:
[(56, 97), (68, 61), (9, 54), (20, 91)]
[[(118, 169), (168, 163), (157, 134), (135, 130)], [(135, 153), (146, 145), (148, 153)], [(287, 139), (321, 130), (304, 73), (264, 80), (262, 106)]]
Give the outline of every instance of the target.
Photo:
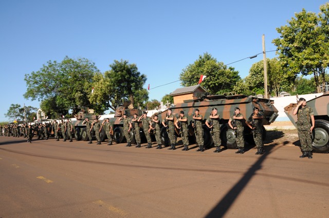
[(32, 121), (33, 116), (36, 115), (35, 113), (36, 110), (38, 110), (38, 108), (34, 108), (32, 106), (26, 106), (25, 114), (24, 114), (24, 107), (21, 107), (20, 104), (11, 104), (5, 116), (10, 118), (11, 120), (24, 121), (26, 115), (27, 121)]

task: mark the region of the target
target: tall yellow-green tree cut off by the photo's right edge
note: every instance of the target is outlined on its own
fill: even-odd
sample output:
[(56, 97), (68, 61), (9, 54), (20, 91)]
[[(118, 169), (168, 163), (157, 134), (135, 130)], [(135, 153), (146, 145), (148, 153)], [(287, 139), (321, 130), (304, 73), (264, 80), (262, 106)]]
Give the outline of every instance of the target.
[(319, 14), (305, 9), (295, 13), (288, 25), (277, 28), (280, 37), (273, 39), (285, 72), (295, 78), (299, 73), (313, 74), (318, 92), (329, 66), (329, 3), (320, 10)]

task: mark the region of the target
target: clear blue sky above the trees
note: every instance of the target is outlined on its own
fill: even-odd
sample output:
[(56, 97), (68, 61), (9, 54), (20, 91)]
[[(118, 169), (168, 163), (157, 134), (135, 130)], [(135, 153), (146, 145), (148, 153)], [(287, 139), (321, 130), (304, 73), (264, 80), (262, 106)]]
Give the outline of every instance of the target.
[[(208, 52), (219, 62), (232, 63), (276, 50), (277, 27), (287, 24), (302, 8), (318, 13), (326, 1), (0, 1), (0, 121), (10, 104), (39, 107), (25, 100), (24, 75), (47, 61), (85, 57), (101, 72), (114, 60), (135, 63), (147, 75), (150, 100), (180, 87), (152, 89), (179, 79), (199, 55)], [(268, 58), (275, 52), (268, 52)], [(230, 66), (248, 75), (263, 55)]]

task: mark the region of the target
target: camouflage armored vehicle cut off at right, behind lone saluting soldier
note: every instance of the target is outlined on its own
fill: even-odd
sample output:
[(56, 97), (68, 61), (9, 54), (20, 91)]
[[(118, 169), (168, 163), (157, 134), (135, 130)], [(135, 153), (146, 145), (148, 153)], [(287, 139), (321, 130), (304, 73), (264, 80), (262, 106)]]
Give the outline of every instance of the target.
[[(312, 107), (315, 119), (313, 130), (313, 151), (319, 153), (329, 152), (329, 92), (307, 101), (307, 105)], [(297, 104), (291, 103), (284, 108), (284, 112), (290, 121), (296, 126), (297, 115), (293, 115)]]

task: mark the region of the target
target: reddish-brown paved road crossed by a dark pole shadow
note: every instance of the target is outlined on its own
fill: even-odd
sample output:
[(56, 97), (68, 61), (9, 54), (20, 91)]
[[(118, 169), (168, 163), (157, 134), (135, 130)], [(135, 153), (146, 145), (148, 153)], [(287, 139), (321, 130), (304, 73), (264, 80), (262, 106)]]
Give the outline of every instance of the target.
[(0, 136), (0, 217), (328, 217), (328, 154), (180, 149)]

